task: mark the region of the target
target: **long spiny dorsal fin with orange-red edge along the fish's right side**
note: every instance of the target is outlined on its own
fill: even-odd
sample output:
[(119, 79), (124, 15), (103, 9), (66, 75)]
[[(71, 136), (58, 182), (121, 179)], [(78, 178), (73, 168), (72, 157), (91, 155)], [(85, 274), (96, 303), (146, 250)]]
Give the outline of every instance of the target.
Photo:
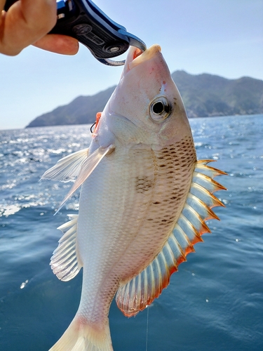
[[(209, 160), (197, 161), (187, 201), (161, 252), (148, 267), (117, 291), (116, 303), (127, 317), (144, 310), (154, 298), (158, 298), (161, 291), (168, 286), (170, 275), (186, 260), (187, 254), (194, 251), (194, 244), (203, 241), (201, 235), (210, 232), (205, 220), (219, 219), (211, 208), (224, 204), (213, 192), (225, 187), (213, 178), (226, 173), (206, 166), (208, 162)], [(209, 176), (200, 173), (201, 171)]]

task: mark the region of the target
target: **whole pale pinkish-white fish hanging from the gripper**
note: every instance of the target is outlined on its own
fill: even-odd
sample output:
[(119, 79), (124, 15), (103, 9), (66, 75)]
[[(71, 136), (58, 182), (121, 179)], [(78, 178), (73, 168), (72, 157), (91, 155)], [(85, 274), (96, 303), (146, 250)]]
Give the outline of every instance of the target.
[[(196, 159), (187, 113), (157, 44), (130, 47), (119, 84), (97, 114), (88, 149), (60, 159), (42, 179), (81, 186), (79, 214), (59, 230), (50, 265), (69, 281), (83, 269), (79, 309), (51, 351), (112, 351), (109, 307), (127, 317), (165, 289), (224, 206), (226, 174)], [(60, 208), (61, 208), (60, 206)], [(58, 208), (58, 211), (60, 211)]]

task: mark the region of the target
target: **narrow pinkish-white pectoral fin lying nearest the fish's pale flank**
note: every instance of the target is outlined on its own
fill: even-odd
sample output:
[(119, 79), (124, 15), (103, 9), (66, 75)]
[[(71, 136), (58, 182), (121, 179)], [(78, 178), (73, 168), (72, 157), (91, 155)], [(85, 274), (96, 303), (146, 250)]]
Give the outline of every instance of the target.
[(85, 180), (94, 171), (94, 169), (97, 167), (97, 165), (103, 159), (103, 157), (108, 152), (111, 152), (113, 149), (114, 149), (113, 145), (109, 145), (108, 147), (99, 147), (92, 154), (90, 154), (87, 159), (85, 159), (83, 161), (83, 163), (81, 164), (81, 170), (79, 172), (78, 178), (76, 178), (74, 185), (72, 186), (71, 190), (69, 190), (67, 196), (62, 201), (62, 203), (60, 204), (60, 206), (59, 206), (58, 210), (55, 212), (55, 214), (58, 213), (58, 211), (60, 211), (60, 208), (62, 208), (62, 206), (67, 201), (67, 199), (69, 199), (69, 197), (72, 196), (72, 194), (78, 189), (78, 187), (80, 187), (81, 184), (83, 184), (85, 182)]

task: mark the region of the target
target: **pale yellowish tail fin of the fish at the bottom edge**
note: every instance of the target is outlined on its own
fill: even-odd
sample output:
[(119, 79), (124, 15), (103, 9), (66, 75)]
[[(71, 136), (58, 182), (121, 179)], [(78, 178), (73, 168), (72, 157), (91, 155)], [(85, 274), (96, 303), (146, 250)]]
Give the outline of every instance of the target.
[(109, 322), (100, 328), (76, 316), (49, 351), (113, 351)]

